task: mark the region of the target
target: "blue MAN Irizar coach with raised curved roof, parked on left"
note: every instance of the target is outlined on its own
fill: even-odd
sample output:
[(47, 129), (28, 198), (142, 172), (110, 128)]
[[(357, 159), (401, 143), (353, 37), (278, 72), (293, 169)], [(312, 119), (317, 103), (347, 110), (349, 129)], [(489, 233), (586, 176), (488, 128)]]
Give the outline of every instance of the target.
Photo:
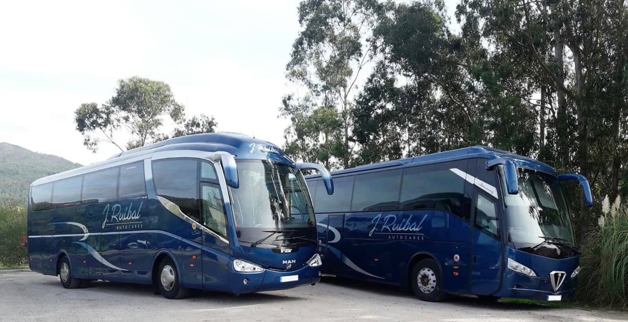
[(320, 279), (301, 169), (273, 144), (241, 134), (177, 137), (30, 188), (28, 261), (63, 287), (105, 280), (235, 294)]

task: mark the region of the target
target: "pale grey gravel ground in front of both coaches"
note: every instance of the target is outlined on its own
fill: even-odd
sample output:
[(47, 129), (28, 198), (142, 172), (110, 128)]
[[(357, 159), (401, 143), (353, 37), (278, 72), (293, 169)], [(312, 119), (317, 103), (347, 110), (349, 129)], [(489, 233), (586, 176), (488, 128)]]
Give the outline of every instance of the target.
[(474, 298), (425, 303), (397, 287), (345, 279), (316, 286), (232, 296), (205, 292), (168, 300), (151, 287), (94, 282), (63, 289), (58, 277), (28, 270), (0, 271), (0, 321), (607, 321), (620, 312), (528, 304), (483, 304)]

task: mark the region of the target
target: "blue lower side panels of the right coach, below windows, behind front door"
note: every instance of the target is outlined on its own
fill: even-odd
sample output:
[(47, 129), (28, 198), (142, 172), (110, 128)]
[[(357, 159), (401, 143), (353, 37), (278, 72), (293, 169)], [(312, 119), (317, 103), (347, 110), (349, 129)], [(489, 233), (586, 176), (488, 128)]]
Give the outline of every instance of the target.
[[(421, 232), (423, 235), (405, 235), (403, 233), (372, 233), (374, 220), (377, 215), (396, 215), (398, 222), (423, 217)], [(443, 269), (445, 290), (447, 292), (468, 292), (469, 264), (470, 264), (470, 233), (467, 222), (450, 213), (438, 210), (403, 210), (399, 212), (360, 212), (344, 215), (345, 223), (342, 227), (342, 215), (317, 213), (318, 239), (326, 244), (323, 250), (323, 272), (338, 276), (353, 277), (366, 281), (386, 282), (408, 285), (408, 266), (417, 254), (433, 254)], [(332, 219), (330, 219), (332, 218)], [(342, 234), (338, 242), (329, 243), (333, 239), (332, 230), (325, 225), (330, 224)], [(380, 223), (381, 225), (381, 223)], [(332, 249), (333, 248), (333, 249)], [(453, 255), (460, 255), (458, 262)], [(340, 257), (338, 257), (340, 255)], [(343, 258), (349, 258), (368, 276), (357, 272), (343, 264)], [(453, 267), (457, 266), (458, 269)], [(374, 277), (377, 276), (377, 277)], [(383, 278), (378, 278), (383, 277)]]

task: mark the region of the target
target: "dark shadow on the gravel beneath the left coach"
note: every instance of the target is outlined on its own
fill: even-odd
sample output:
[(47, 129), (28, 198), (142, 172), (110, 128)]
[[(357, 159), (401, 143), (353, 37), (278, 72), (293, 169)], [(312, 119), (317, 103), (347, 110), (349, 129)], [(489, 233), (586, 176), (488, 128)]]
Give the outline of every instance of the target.
[[(62, 287), (59, 284), (59, 281), (48, 281), (43, 284), (49, 284), (53, 287)], [(132, 284), (132, 283), (124, 283), (124, 282), (108, 282), (108, 281), (93, 281), (90, 283), (89, 287), (78, 288), (79, 290), (84, 291), (97, 291), (104, 292), (108, 294), (116, 294), (116, 296), (145, 296), (149, 298), (151, 296), (156, 296), (158, 298), (163, 298), (160, 294), (153, 294), (153, 286), (144, 285), (144, 284)], [(72, 291), (72, 290), (70, 290)], [(269, 294), (266, 292), (256, 292), (249, 294), (229, 294), (226, 292), (212, 292), (212, 291), (202, 291), (202, 290), (192, 290), (190, 296), (186, 298), (184, 301), (216, 301), (222, 304), (235, 304), (235, 305), (246, 305), (246, 304), (264, 304), (264, 303), (272, 303), (276, 301), (299, 301), (304, 300), (300, 296), (284, 296), (278, 294)]]

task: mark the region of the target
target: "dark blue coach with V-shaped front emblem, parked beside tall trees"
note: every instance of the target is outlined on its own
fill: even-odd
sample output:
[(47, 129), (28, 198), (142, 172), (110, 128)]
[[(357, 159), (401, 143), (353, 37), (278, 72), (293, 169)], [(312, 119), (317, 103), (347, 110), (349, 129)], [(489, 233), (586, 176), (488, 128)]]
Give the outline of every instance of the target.
[(308, 176), (323, 273), (409, 286), (425, 301), (475, 294), (560, 301), (580, 272), (560, 183), (588, 181), (473, 147)]

